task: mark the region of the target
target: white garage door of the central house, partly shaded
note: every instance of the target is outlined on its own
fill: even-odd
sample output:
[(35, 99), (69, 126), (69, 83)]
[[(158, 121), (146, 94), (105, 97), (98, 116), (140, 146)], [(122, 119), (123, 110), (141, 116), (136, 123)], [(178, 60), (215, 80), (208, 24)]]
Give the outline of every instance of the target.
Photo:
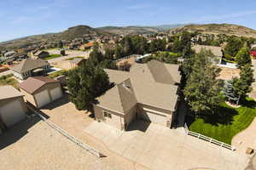
[(165, 125), (166, 126), (166, 116), (156, 114), (150, 111), (143, 111), (142, 118), (148, 122), (154, 122), (156, 124)]

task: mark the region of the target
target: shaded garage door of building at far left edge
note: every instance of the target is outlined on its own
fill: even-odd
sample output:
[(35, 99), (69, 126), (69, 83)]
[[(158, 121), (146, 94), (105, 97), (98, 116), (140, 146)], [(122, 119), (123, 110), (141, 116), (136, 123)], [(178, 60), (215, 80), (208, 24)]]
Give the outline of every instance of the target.
[(25, 118), (25, 112), (23, 111), (19, 100), (3, 105), (3, 107), (0, 108), (0, 114), (7, 127), (12, 126)]

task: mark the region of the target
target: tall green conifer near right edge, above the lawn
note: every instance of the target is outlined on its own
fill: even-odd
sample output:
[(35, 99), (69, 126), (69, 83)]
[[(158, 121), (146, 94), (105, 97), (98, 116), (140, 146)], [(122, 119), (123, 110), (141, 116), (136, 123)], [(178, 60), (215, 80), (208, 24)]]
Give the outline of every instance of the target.
[(247, 96), (247, 93), (252, 91), (252, 84), (254, 82), (253, 69), (251, 64), (246, 64), (241, 67), (240, 78), (234, 82), (234, 90), (236, 94), (240, 95), (241, 101)]

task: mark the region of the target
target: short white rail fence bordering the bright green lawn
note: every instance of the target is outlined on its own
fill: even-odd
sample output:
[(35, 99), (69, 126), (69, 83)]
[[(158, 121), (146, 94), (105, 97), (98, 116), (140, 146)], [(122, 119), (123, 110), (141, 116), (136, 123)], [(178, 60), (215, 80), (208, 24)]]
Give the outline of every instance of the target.
[(184, 128), (185, 128), (185, 132), (190, 135), (190, 136), (194, 136), (195, 138), (198, 138), (198, 139), (203, 139), (203, 140), (206, 140), (212, 144), (217, 144), (219, 145), (220, 147), (224, 147), (226, 149), (229, 149), (229, 150), (236, 150), (236, 147), (235, 146), (232, 146), (230, 144), (225, 144), (224, 142), (220, 142), (216, 139), (212, 139), (212, 138), (209, 138), (205, 135), (202, 135), (201, 133), (194, 133), (192, 131), (189, 131), (189, 127), (187, 126), (187, 124), (185, 123), (184, 125)]

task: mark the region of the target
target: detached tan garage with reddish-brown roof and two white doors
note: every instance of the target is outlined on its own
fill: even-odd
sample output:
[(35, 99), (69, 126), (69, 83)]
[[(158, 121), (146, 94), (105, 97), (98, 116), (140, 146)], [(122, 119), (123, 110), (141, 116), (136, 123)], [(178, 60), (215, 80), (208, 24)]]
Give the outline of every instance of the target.
[(61, 82), (49, 77), (29, 77), (19, 84), (26, 101), (41, 108), (62, 97)]

